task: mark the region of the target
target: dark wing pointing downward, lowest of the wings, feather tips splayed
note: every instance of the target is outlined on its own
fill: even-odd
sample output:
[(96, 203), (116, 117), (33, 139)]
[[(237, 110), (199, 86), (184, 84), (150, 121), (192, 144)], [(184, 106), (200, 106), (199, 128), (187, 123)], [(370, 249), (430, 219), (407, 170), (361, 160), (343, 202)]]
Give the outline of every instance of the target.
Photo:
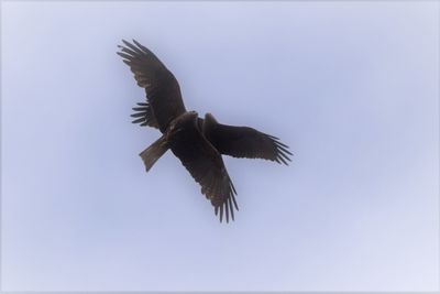
[(185, 126), (168, 140), (173, 153), (201, 186), (201, 193), (211, 202), (220, 221), (234, 218), (235, 188), (224, 167), (220, 153), (206, 140), (196, 123)]

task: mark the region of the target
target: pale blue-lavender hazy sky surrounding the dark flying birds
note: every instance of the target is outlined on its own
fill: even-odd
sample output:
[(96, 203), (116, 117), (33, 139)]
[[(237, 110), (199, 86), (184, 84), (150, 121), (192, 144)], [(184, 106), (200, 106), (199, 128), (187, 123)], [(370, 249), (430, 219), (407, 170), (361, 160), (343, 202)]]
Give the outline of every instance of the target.
[[(1, 3), (3, 290), (439, 288), (439, 2)], [(220, 224), (116, 54), (136, 39), (188, 109), (277, 135), (226, 157)]]

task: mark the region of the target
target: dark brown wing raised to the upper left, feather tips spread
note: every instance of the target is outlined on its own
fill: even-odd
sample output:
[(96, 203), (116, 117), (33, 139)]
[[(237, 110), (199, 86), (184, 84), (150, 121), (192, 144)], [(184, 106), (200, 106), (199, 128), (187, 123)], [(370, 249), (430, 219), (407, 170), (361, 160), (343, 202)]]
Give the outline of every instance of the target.
[[(152, 111), (156, 126), (164, 132), (173, 119), (186, 111), (177, 79), (148, 48), (134, 40), (134, 45), (124, 40), (122, 42), (124, 45), (119, 46), (121, 52), (118, 54), (146, 92), (147, 105), (141, 105), (139, 111)], [(145, 115), (139, 116), (133, 122), (148, 124)]]

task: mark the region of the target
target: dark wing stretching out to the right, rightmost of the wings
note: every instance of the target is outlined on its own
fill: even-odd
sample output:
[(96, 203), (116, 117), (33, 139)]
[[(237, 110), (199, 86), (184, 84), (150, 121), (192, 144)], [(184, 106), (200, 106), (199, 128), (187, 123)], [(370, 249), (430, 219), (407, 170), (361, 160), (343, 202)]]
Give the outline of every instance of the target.
[(293, 155), (278, 138), (249, 127), (218, 123), (209, 113), (205, 117), (204, 134), (221, 154), (233, 157), (263, 159), (287, 165)]

